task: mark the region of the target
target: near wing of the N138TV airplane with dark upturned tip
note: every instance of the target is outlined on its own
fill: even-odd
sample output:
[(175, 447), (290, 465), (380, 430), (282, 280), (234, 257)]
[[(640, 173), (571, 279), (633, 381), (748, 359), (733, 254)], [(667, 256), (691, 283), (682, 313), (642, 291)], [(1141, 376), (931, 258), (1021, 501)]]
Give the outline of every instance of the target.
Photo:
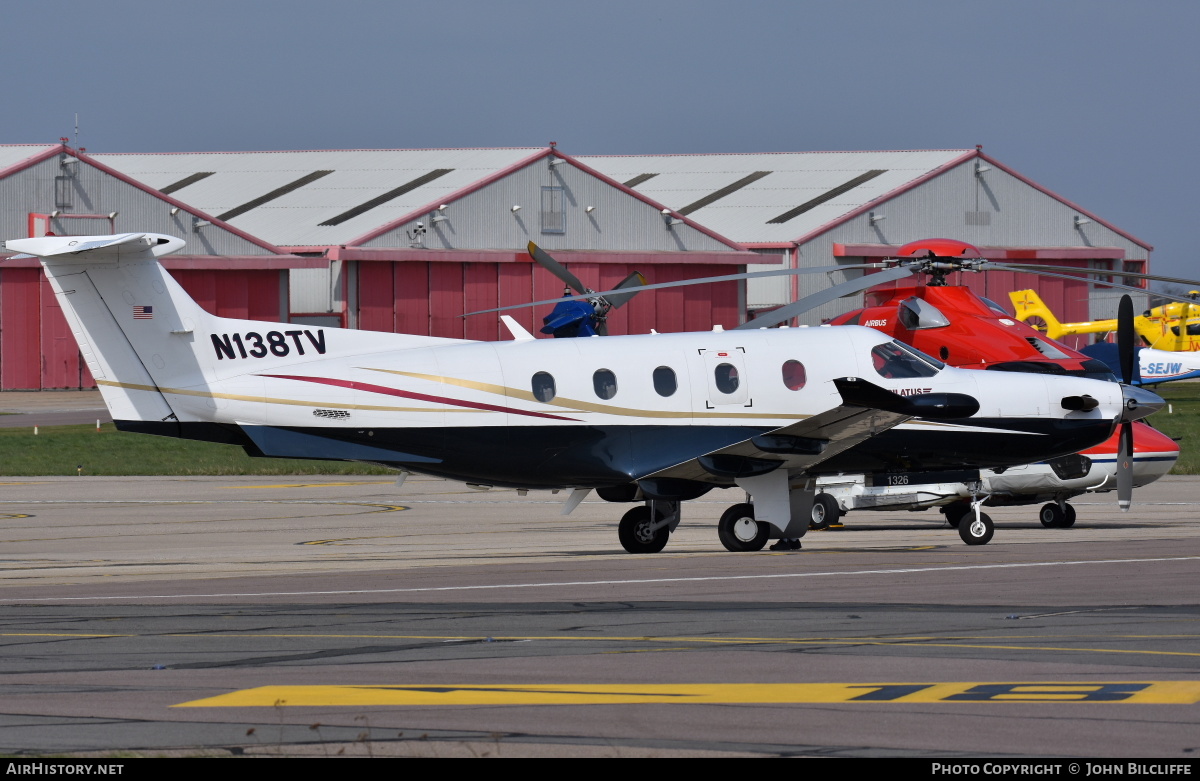
[(847, 377), (834, 383), (842, 397), (842, 403), (838, 407), (647, 477), (716, 482), (775, 469), (804, 473), (926, 411), (919, 404), (913, 404), (913, 397), (898, 396), (865, 380)]

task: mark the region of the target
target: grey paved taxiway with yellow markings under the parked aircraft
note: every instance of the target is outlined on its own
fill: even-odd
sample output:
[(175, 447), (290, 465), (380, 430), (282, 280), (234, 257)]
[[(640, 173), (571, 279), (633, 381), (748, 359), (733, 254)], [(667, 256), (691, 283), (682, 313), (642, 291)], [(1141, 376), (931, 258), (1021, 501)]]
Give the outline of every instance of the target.
[(0, 751), (1169, 757), (1200, 751), (1200, 480), (858, 512), (728, 553), (410, 477), (0, 480)]

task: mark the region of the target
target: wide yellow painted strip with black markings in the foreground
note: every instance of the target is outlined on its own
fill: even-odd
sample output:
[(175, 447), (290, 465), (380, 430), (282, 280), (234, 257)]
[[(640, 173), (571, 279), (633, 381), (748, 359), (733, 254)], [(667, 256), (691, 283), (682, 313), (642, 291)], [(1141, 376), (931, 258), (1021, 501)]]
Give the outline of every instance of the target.
[(818, 703), (1130, 703), (1195, 704), (1200, 680), (827, 684), (535, 684), (259, 686), (174, 708), (329, 708), (364, 705), (612, 705)]

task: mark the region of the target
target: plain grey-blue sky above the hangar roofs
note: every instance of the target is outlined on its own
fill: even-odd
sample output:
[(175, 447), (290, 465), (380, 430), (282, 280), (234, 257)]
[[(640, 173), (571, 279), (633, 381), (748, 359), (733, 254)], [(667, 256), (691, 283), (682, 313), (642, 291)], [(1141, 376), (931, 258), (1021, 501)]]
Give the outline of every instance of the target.
[(1200, 4), (7, 0), (0, 143), (984, 151), (1200, 277)]

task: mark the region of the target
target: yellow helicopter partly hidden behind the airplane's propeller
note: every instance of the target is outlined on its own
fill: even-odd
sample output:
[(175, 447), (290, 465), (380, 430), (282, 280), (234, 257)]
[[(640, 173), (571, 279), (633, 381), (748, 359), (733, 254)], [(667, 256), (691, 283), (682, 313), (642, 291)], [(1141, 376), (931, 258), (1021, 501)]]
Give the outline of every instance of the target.
[[(1076, 334), (1116, 332), (1116, 320), (1088, 320), (1085, 323), (1060, 323), (1050, 307), (1033, 290), (1009, 293), (1016, 311), (1016, 319), (1045, 331), (1052, 340)], [(1134, 318), (1134, 328), (1146, 347), (1171, 353), (1200, 350), (1200, 290), (1189, 290), (1192, 301), (1172, 301), (1147, 310)], [(1040, 320), (1040, 322), (1039, 322)]]

